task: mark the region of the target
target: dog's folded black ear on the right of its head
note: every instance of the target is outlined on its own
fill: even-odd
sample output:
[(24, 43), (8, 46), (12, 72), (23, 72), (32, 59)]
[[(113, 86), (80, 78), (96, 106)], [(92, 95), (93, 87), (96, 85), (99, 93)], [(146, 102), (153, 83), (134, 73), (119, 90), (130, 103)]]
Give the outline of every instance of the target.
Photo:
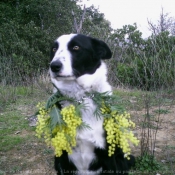
[(95, 55), (99, 59), (110, 59), (112, 57), (112, 52), (105, 42), (92, 38), (92, 45)]

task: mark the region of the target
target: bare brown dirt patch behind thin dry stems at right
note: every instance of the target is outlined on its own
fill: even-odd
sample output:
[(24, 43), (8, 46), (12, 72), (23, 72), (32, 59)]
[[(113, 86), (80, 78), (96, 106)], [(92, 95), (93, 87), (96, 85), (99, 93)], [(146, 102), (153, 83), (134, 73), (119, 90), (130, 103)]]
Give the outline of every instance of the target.
[[(175, 159), (175, 106), (172, 106), (171, 108), (168, 107), (168, 109), (166, 108), (165, 113), (161, 113), (160, 111), (160, 114), (157, 114), (155, 113), (155, 111), (158, 111), (158, 109), (152, 108), (149, 111), (150, 115), (154, 115), (154, 117), (151, 119), (152, 121), (150, 128), (152, 137), (150, 137), (150, 139), (154, 140), (156, 138), (154, 148), (156, 156), (164, 158), (164, 162), (170, 161), (169, 159), (171, 158)], [(139, 116), (144, 116), (145, 111), (132, 111), (131, 113), (135, 116), (135, 123), (137, 123), (136, 130), (134, 132), (138, 136), (138, 138), (141, 138), (141, 122), (143, 121), (143, 119), (140, 119)], [(156, 128), (158, 128), (157, 133)], [(145, 132), (147, 132), (147, 130), (148, 127), (145, 127)], [(150, 150), (153, 149), (150, 148)], [(138, 152), (138, 150), (135, 150), (135, 152)]]

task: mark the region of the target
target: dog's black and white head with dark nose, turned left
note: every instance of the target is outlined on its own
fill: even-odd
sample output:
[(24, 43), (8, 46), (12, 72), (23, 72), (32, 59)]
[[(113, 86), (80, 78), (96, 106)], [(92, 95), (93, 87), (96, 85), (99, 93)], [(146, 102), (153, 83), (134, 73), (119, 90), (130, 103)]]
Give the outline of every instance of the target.
[(111, 56), (109, 47), (101, 40), (81, 34), (62, 35), (51, 49), (50, 75), (52, 78), (75, 79), (93, 74), (101, 60)]

